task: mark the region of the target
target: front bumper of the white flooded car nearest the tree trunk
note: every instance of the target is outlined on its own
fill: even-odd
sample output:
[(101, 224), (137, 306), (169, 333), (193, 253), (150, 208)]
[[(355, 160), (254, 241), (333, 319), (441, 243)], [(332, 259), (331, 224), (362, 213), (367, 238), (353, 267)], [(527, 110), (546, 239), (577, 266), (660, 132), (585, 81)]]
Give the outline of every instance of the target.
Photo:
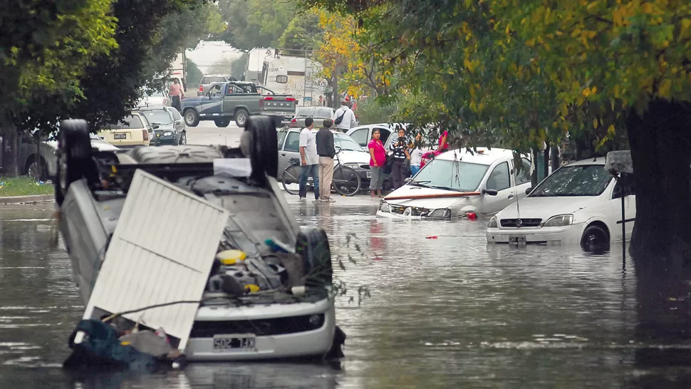
[(509, 243), (509, 236), (524, 236), (529, 244), (571, 245), (581, 243), (583, 224), (539, 229), (487, 229), (487, 243)]

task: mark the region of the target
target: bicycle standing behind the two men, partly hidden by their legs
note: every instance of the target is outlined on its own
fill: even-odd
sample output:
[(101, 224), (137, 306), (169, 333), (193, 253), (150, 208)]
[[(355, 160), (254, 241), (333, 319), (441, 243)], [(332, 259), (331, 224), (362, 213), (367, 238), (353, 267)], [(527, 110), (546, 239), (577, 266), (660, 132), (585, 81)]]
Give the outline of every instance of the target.
[[(358, 172), (352, 167), (348, 167), (341, 164), (341, 160), (338, 159), (338, 154), (341, 153), (341, 149), (336, 152), (336, 165), (333, 167), (333, 180), (331, 181), (331, 190), (343, 196), (355, 196), (360, 192), (363, 185), (362, 179)], [(300, 160), (297, 158), (291, 158), (291, 165), (286, 167), (281, 175), (281, 182), (283, 187), (289, 194), (298, 194), (297, 190), (293, 190), (288, 187), (288, 185), (300, 184), (300, 175), (302, 173), (302, 167), (300, 165)], [(307, 186), (313, 187), (312, 177), (307, 177)]]

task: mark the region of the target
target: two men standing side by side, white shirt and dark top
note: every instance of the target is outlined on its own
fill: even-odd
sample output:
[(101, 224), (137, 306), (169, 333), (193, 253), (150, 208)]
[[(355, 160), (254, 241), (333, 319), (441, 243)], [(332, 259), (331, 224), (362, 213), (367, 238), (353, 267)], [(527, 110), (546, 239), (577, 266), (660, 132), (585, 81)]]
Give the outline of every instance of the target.
[(322, 127), (313, 133), (314, 120), (305, 119), (305, 128), (300, 132), (300, 189), (298, 196), (307, 199), (307, 180), (312, 177), (315, 202), (334, 202), (331, 199), (331, 182), (333, 181), (333, 157), (336, 157), (336, 145), (333, 141), (331, 126), (333, 120), (324, 119)]

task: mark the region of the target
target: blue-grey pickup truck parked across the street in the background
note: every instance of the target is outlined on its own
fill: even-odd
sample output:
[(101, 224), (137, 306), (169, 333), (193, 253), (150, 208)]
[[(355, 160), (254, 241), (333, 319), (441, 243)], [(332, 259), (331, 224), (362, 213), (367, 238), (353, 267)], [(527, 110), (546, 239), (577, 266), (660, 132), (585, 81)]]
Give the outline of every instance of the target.
[(296, 101), (291, 95), (262, 95), (253, 83), (230, 81), (212, 83), (203, 96), (184, 98), (181, 105), (189, 127), (196, 127), (200, 120), (214, 120), (217, 127), (227, 127), (235, 120), (238, 127), (244, 127), (249, 115), (272, 116), (276, 123), (290, 122)]

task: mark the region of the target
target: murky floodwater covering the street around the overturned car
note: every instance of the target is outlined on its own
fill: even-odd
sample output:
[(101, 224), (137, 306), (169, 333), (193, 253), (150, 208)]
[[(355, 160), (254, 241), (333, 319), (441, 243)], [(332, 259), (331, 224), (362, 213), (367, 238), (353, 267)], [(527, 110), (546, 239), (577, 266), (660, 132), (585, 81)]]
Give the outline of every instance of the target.
[(0, 209), (0, 388), (691, 386), (689, 269), (630, 261), (623, 269), (620, 247), (602, 256), (488, 247), (485, 221), (378, 219), (367, 197), (289, 201), (302, 225), (326, 229), (345, 266), (337, 270), (348, 289), (337, 301), (348, 336), (340, 366), (66, 373), (60, 364), (83, 306), (68, 257), (51, 248), (46, 204)]

